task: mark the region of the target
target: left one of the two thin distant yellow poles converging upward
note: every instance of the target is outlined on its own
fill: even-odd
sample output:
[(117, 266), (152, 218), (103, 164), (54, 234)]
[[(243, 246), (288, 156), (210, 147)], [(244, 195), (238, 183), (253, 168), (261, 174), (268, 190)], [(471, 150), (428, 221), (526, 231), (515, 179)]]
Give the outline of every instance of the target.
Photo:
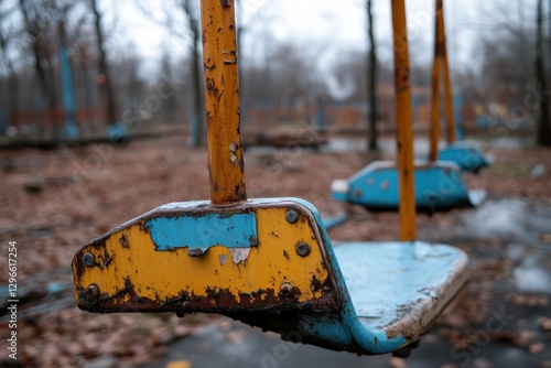
[(431, 90), (431, 147), (429, 161), (434, 162), (439, 158), (440, 140), (440, 71), (442, 64), (443, 32), (440, 26), (442, 17), (442, 0), (436, 0), (434, 13), (434, 59), (432, 62), (432, 90)]

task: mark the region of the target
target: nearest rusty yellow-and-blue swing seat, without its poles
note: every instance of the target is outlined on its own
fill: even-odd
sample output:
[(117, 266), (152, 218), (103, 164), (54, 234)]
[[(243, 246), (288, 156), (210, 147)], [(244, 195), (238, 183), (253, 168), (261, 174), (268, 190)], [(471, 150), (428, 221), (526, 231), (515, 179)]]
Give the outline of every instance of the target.
[(159, 207), (83, 247), (73, 268), (85, 311), (219, 313), (383, 354), (429, 328), (465, 281), (466, 256), (420, 241), (332, 247), (310, 203), (273, 198)]

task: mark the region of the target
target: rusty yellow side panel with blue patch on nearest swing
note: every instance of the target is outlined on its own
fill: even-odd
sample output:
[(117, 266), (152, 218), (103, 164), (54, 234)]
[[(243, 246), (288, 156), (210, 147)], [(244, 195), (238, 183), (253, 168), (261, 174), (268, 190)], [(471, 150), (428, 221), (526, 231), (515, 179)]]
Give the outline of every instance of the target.
[[(287, 219), (290, 210), (294, 224)], [(213, 219), (223, 225), (202, 239), (196, 221), (206, 229)], [(172, 204), (76, 253), (77, 303), (101, 313), (327, 311), (338, 300), (321, 243), (312, 213), (293, 202)]]

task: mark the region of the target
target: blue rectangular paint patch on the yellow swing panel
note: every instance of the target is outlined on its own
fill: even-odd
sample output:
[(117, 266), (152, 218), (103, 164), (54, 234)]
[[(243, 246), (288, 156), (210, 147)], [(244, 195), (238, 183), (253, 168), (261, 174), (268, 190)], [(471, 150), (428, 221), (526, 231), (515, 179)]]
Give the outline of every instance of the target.
[(190, 247), (206, 251), (216, 245), (224, 245), (227, 248), (247, 248), (251, 246), (251, 239), (258, 237), (257, 219), (253, 213), (155, 217), (145, 221), (145, 226), (149, 228), (156, 250)]

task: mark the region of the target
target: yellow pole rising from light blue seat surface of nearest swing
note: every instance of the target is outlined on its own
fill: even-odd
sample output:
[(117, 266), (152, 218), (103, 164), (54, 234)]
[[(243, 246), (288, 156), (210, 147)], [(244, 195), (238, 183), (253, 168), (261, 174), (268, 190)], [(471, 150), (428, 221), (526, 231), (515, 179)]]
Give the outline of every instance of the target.
[(404, 0), (392, 1), (395, 47), (396, 130), (400, 177), (400, 239), (415, 239), (415, 191), (413, 180), (413, 113)]

